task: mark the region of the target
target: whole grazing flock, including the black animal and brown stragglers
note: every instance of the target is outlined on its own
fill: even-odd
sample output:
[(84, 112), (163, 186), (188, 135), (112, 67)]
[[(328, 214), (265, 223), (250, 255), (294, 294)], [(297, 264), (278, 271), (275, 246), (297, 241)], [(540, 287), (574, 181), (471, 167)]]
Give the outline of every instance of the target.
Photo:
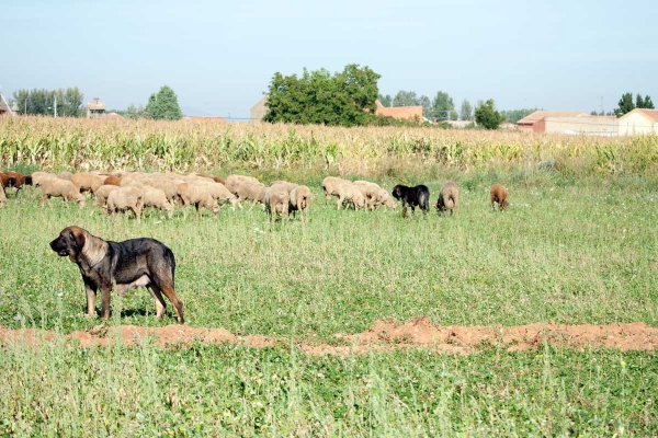
[[(174, 207), (180, 206), (186, 218), (191, 205), (195, 206), (197, 214), (203, 209), (217, 214), (225, 205), (230, 204), (242, 208), (243, 203), (262, 204), (270, 220), (279, 217), (287, 218), (288, 215), (299, 212), (302, 220), (308, 217), (311, 194), (305, 185), (298, 185), (286, 181), (275, 181), (270, 186), (252, 176), (229, 175), (226, 178), (219, 176), (192, 173), (189, 175), (178, 173), (145, 173), (124, 172), (112, 173), (60, 172), (58, 174), (46, 172), (34, 172), (32, 175), (22, 175), (18, 172), (0, 172), (2, 187), (15, 187), (20, 189), (23, 185), (34, 185), (41, 188), (42, 206), (52, 197), (61, 197), (65, 205), (72, 200), (80, 207), (87, 201), (86, 193), (93, 194), (95, 203), (92, 214), (97, 207), (107, 214), (118, 211), (133, 211), (137, 221), (140, 221), (145, 208), (159, 209), (172, 217)], [(429, 210), (429, 189), (424, 185), (407, 187), (396, 185), (389, 193), (375, 183), (368, 181), (348, 181), (336, 176), (328, 176), (322, 181), (325, 204), (331, 197), (337, 198), (337, 207), (341, 209), (352, 206), (354, 209), (374, 210), (377, 207), (397, 207), (394, 198), (402, 204), (402, 216), (406, 217), (407, 207), (419, 207), (423, 212)], [(504, 209), (508, 205), (507, 189), (495, 184), (490, 192), (491, 206), (498, 205)], [(4, 189), (0, 191), (0, 207), (7, 204)], [(457, 209), (458, 191), (453, 182), (447, 182), (441, 187), (436, 200), (439, 212)]]

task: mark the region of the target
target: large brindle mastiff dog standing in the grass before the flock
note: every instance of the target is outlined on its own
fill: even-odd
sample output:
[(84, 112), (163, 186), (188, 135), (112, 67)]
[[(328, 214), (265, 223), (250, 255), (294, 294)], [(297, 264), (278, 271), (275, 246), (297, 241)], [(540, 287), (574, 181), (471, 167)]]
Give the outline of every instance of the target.
[(175, 309), (178, 322), (184, 322), (183, 303), (173, 290), (175, 260), (162, 242), (148, 238), (111, 242), (73, 226), (61, 230), (50, 247), (63, 257), (68, 255), (80, 268), (90, 316), (95, 316), (98, 289), (103, 300), (102, 316), (107, 319), (112, 290), (124, 296), (133, 288), (146, 286), (156, 301), (157, 318), (164, 315), (164, 293)]

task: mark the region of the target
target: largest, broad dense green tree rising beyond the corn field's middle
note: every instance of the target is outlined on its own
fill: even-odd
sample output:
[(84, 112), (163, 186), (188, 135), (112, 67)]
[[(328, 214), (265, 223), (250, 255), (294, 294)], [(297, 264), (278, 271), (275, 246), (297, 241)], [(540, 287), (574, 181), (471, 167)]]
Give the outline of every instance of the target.
[(270, 82), (263, 122), (366, 125), (376, 110), (378, 79), (379, 74), (356, 64), (333, 76), (325, 69), (304, 69), (300, 78), (276, 72)]

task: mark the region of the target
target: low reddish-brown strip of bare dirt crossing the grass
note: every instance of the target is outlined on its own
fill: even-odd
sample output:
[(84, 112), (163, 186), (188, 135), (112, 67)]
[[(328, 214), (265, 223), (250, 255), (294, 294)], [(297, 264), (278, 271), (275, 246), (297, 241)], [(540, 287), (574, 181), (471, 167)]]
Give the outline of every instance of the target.
[[(262, 348), (277, 344), (290, 345), (290, 339), (276, 339), (265, 336), (236, 336), (224, 328), (190, 327), (168, 325), (164, 327), (141, 327), (123, 325), (111, 327), (98, 325), (87, 332), (72, 332), (64, 336), (84, 347), (107, 345), (116, 341), (134, 345), (146, 338), (152, 338), (158, 345), (203, 343), (243, 343)], [(658, 346), (658, 328), (643, 322), (611, 325), (564, 325), (535, 323), (519, 326), (436, 326), (429, 318), (421, 316), (399, 324), (393, 320), (376, 321), (373, 327), (359, 334), (337, 334), (339, 344), (305, 344), (297, 346), (309, 355), (364, 354), (368, 350), (392, 350), (394, 348), (430, 348), (439, 353), (470, 354), (481, 348), (504, 348), (509, 351), (537, 348), (544, 342), (570, 348), (593, 347), (616, 348), (621, 350), (653, 351)], [(52, 342), (55, 334), (38, 328), (8, 330), (0, 327), (0, 343), (23, 342), (39, 345)]]

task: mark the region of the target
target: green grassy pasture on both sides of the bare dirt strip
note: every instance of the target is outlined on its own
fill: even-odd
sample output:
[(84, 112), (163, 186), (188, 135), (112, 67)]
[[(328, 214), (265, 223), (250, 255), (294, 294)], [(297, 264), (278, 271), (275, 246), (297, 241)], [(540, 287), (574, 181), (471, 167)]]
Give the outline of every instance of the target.
[[(37, 191), (0, 210), (0, 325), (68, 333), (82, 315), (76, 265), (48, 242), (70, 224), (106, 240), (151, 237), (177, 257), (189, 325), (337, 343), (376, 320), (440, 325), (658, 325), (658, 193), (653, 181), (547, 172), (453, 174), (460, 212), (404, 220), (337, 211), (319, 181), (310, 221), (259, 208), (140, 224), (90, 207), (42, 209)], [(294, 181), (294, 180), (293, 180)], [(511, 206), (488, 204), (502, 182)], [(441, 182), (427, 182), (435, 201)], [(392, 182), (384, 184), (390, 189)], [(91, 204), (91, 203), (89, 203)], [(110, 324), (159, 326), (144, 290), (113, 296)], [(465, 356), (423, 349), (348, 358), (292, 346), (0, 349), (0, 434), (71, 436), (655, 436), (654, 353), (545, 345)], [(2, 427), (4, 429), (2, 429)]]

